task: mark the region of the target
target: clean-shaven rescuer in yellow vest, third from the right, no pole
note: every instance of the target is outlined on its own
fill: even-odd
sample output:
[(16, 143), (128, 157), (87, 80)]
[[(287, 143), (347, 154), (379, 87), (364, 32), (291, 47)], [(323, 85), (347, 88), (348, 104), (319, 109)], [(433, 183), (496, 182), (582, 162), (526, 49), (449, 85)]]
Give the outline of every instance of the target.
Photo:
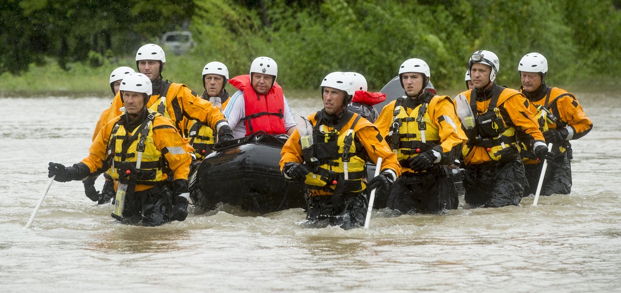
[(399, 68), (406, 96), (386, 105), (375, 125), (401, 164), (387, 207), (433, 213), (457, 209), (458, 193), (451, 179), (457, 151), (466, 134), (448, 95), (425, 90), (431, 71), (425, 61), (407, 59)]

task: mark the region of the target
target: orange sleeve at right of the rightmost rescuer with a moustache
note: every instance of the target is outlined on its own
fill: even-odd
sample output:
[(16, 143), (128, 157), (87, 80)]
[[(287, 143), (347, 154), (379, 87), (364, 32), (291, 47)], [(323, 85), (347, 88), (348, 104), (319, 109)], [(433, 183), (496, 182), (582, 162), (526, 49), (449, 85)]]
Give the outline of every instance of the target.
[[(582, 106), (578, 100), (571, 96), (564, 96), (556, 101), (559, 118), (561, 121), (567, 121), (567, 136), (564, 140), (579, 139), (585, 136), (593, 128), (593, 122), (589, 116), (584, 113)], [(556, 129), (557, 131), (560, 129)]]

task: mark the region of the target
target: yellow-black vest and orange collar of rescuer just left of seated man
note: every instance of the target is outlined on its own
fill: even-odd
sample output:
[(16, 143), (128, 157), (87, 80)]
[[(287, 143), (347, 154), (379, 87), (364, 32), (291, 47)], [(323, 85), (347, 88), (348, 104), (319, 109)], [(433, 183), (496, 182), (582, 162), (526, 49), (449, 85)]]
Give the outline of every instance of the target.
[[(215, 98), (220, 100), (220, 107), (222, 107), (220, 108), (220, 111), (224, 110), (229, 103), (229, 93), (227, 90), (222, 89), (222, 92), (220, 92), (218, 97), (209, 97), (207, 92), (202, 94), (202, 99), (209, 101), (212, 105), (216, 104), (214, 103)], [(214, 133), (214, 129), (209, 127), (209, 124), (198, 120), (190, 121), (188, 137), (190, 140), (190, 146), (194, 149), (194, 155), (196, 155), (197, 161), (202, 161), (202, 159), (205, 159), (207, 155), (214, 151), (213, 147), (217, 136)]]

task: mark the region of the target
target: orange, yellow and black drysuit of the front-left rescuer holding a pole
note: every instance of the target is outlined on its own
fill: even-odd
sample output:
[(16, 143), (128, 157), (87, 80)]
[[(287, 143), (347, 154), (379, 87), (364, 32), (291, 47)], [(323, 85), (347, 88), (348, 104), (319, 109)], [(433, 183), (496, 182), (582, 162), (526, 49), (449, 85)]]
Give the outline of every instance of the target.
[[(108, 174), (115, 180), (115, 190), (119, 181), (129, 185), (122, 220), (159, 225), (176, 219), (171, 212), (173, 204), (180, 195), (188, 194), (192, 159), (187, 146), (173, 121), (145, 108), (133, 120), (124, 114), (105, 123), (89, 156), (76, 165), (86, 167), (89, 173), (111, 166), (114, 172)], [(140, 168), (136, 169), (138, 149), (143, 149), (143, 154)], [(170, 174), (173, 178), (169, 178)]]

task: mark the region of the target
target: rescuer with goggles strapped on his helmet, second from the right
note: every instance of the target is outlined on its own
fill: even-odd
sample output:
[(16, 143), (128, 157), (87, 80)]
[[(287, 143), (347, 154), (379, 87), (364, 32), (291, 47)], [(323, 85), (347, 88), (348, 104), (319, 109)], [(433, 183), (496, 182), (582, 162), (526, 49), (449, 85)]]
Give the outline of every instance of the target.
[[(457, 107), (469, 106), (473, 115), (460, 116), (463, 123), (469, 120), (472, 124), (466, 128), (468, 141), (462, 151), (466, 203), (486, 208), (517, 206), (528, 184), (517, 136), (530, 141), (530, 149), (540, 160), (551, 159), (554, 154), (543, 141), (524, 95), (496, 84), (500, 69), (496, 54), (476, 51), (468, 61), (468, 69), (474, 89), (461, 93), (467, 103), (457, 103), (459, 98), (455, 98)], [(458, 113), (465, 110), (458, 108)]]

